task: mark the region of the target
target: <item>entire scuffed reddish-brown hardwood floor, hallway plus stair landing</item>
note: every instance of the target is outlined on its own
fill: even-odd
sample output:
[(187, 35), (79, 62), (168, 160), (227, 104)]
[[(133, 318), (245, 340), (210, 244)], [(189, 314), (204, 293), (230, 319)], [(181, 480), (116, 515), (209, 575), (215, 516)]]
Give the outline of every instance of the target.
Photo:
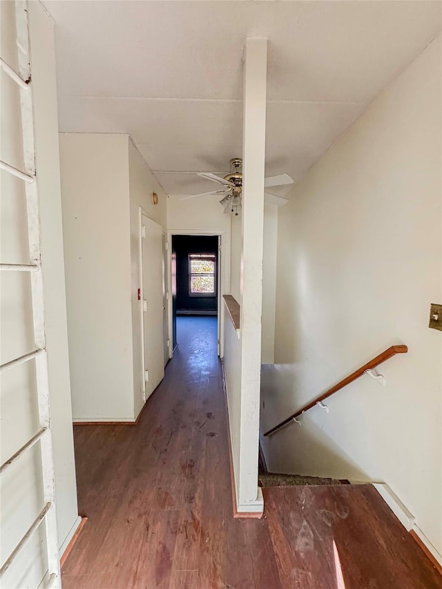
[(178, 343), (137, 426), (74, 428), (88, 523), (64, 589), (442, 588), (371, 485), (272, 487), (233, 519), (215, 318), (180, 318)]

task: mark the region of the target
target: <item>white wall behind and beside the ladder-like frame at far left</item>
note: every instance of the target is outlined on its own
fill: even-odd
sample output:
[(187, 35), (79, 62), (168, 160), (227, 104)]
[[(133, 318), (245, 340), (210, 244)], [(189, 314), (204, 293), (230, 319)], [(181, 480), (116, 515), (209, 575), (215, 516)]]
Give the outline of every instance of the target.
[[(14, 3), (1, 2), (1, 55), (17, 69)], [(50, 17), (30, 3), (32, 87), (35, 101), (37, 178), (41, 207), (42, 264), (46, 298), (48, 374), (55, 461), (59, 545), (79, 523), (70, 417), (54, 32)], [(23, 167), (19, 93), (1, 74), (1, 158)], [(23, 183), (1, 173), (1, 260), (28, 263), (26, 200)], [(29, 276), (1, 277), (2, 362), (34, 348)], [(1, 378), (1, 462), (38, 429), (33, 363), (6, 371)], [(1, 562), (26, 532), (43, 505), (39, 447), (36, 445), (1, 477)], [(45, 571), (39, 532), (2, 579), (8, 588), (38, 586)]]

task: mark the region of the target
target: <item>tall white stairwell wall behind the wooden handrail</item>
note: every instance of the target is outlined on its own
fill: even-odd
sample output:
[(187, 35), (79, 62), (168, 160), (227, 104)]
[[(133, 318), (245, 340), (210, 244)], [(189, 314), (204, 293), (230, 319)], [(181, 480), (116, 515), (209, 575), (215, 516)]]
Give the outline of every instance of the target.
[(367, 108), (278, 218), (276, 346), (262, 427), (383, 349), (410, 351), (312, 409), (265, 451), (271, 470), (385, 481), (442, 552), (441, 39)]

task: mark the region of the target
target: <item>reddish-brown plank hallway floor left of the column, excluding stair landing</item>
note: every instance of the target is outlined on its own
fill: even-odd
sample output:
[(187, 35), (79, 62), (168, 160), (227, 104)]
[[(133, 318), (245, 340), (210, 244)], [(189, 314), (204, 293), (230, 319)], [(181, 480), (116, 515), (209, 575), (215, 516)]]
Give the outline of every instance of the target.
[(279, 586), (267, 522), (232, 517), (216, 340), (215, 317), (178, 318), (173, 361), (138, 425), (74, 428), (88, 523), (64, 589)]

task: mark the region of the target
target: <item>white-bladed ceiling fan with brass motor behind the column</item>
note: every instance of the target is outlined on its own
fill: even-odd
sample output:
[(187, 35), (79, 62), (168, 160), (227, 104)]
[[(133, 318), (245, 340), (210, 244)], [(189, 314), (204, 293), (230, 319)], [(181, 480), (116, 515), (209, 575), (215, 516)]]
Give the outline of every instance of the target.
[[(224, 213), (235, 213), (235, 215), (238, 215), (238, 211), (241, 209), (242, 202), (242, 172), (240, 171), (242, 168), (242, 158), (233, 157), (233, 160), (230, 160), (230, 165), (231, 172), (224, 177), (220, 177), (215, 174), (198, 173), (198, 176), (206, 178), (206, 180), (212, 180), (212, 182), (222, 184), (222, 186), (224, 186), (223, 189), (184, 196), (181, 200), (187, 200), (189, 198), (196, 198), (199, 196), (208, 196), (212, 194), (219, 195), (222, 196), (220, 204), (224, 206)], [(271, 188), (271, 186), (288, 186), (289, 184), (293, 184), (293, 179), (288, 174), (267, 176), (264, 182), (265, 188)], [(283, 199), (282, 197), (278, 197), (267, 192), (265, 193), (265, 197), (266, 200), (269, 200), (269, 202), (273, 203), (275, 203), (277, 200), (281, 202), (287, 202), (287, 199)]]

